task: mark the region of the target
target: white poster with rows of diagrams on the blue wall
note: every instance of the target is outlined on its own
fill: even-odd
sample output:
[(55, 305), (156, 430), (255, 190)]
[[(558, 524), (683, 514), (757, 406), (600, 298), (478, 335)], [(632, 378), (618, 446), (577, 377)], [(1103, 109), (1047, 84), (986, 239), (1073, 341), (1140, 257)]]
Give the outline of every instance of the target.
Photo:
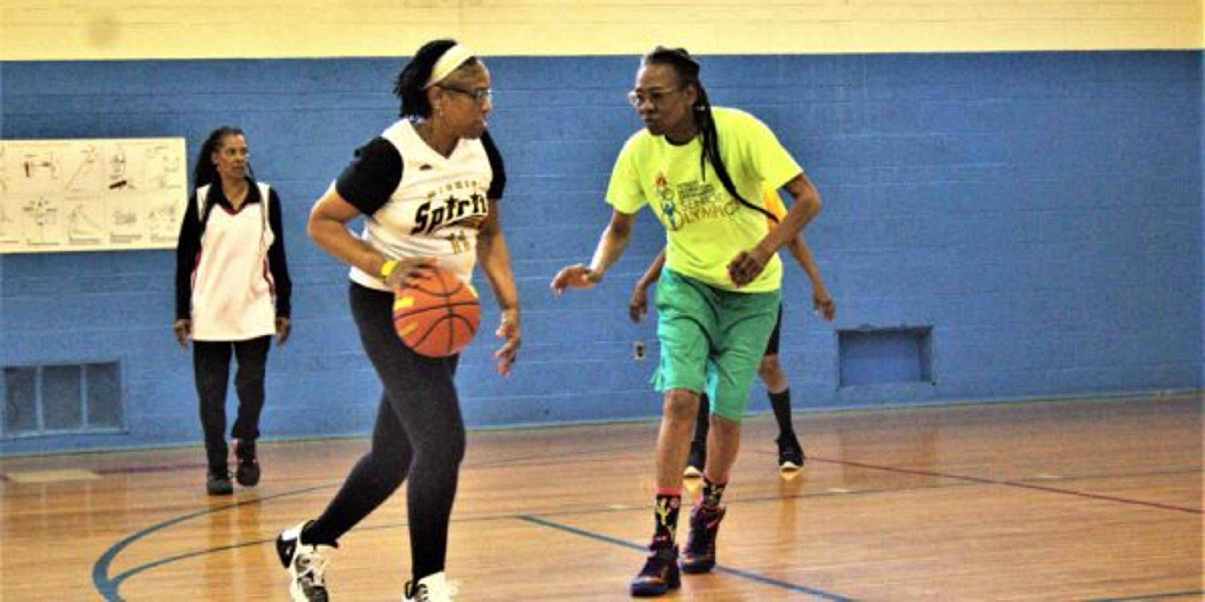
[(184, 138), (0, 140), (0, 254), (175, 248)]

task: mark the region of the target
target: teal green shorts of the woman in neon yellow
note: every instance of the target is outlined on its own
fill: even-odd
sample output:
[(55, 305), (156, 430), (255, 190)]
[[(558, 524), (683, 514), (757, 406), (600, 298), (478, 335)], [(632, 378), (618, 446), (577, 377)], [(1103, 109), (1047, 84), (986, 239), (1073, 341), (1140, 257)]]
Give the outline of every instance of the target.
[(778, 318), (777, 290), (734, 293), (671, 270), (657, 282), (658, 391), (707, 391), (711, 412), (740, 421)]

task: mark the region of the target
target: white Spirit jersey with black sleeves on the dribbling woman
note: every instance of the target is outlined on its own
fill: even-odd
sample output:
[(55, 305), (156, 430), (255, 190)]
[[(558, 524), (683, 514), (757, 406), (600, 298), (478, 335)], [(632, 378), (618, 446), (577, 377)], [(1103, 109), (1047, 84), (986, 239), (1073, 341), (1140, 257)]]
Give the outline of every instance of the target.
[[(340, 196), (365, 214), (360, 237), (386, 258), (435, 258), (465, 282), (477, 259), (477, 232), (489, 201), (502, 195), (501, 157), (486, 132), (462, 138), (449, 157), (435, 152), (408, 119), (394, 123), (355, 152), (335, 182)], [(389, 290), (377, 275), (352, 267), (364, 287)]]

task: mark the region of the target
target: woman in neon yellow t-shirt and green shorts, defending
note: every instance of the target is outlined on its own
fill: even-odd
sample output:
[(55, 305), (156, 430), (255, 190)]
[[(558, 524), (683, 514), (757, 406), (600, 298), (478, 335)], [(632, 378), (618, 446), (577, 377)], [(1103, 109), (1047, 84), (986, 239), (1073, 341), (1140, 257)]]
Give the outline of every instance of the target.
[[(648, 560), (631, 580), (634, 596), (677, 588), (678, 562), (687, 573), (705, 573), (716, 565), (724, 518), (721, 496), (778, 309), (782, 264), (776, 252), (821, 205), (807, 176), (765, 124), (742, 111), (711, 106), (699, 71), (681, 48), (657, 47), (643, 57), (628, 99), (645, 129), (628, 138), (611, 172), (611, 223), (589, 266), (566, 266), (552, 281), (557, 293), (601, 282), (627, 248), (635, 214), (645, 205), (665, 226), (665, 270), (657, 284), (662, 358), (653, 377), (664, 394), (654, 531)], [(781, 219), (766, 211), (763, 187), (783, 188), (794, 197)], [(771, 229), (768, 218), (777, 228)], [(680, 559), (675, 532), (682, 466), (705, 390), (712, 421), (703, 498), (690, 513)]]

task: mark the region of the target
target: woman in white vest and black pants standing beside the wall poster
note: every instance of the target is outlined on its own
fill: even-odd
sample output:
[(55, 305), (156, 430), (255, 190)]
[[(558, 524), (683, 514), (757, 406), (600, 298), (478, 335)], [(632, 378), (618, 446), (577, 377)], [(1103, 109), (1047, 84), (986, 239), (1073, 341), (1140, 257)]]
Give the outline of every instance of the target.
[(259, 414), (272, 335), (289, 337), (289, 268), (284, 260), (281, 200), (251, 173), (247, 137), (237, 128), (210, 132), (193, 167), (188, 211), (176, 246), (176, 341), (193, 346), (210, 495), (230, 495), (225, 441), (230, 356), (239, 362), (234, 421), (235, 478), (259, 483)]

